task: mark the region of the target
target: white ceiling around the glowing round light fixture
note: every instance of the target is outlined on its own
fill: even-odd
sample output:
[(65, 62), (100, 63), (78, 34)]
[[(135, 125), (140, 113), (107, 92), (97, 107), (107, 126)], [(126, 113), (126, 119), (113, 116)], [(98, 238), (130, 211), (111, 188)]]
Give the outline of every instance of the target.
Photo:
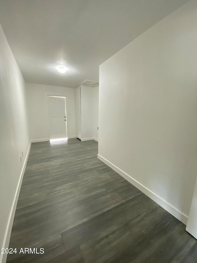
[(187, 2), (0, 0), (0, 23), (26, 82), (75, 88), (98, 81), (100, 64)]

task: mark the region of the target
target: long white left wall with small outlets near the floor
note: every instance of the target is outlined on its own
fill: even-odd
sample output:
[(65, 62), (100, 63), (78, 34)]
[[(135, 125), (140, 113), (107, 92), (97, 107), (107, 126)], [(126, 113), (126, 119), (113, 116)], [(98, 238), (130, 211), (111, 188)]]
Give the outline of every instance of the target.
[[(20, 190), (18, 185), (30, 137), (25, 82), (1, 26), (0, 43), (0, 248), (3, 248), (9, 245), (15, 199), (17, 190)], [(24, 157), (21, 163), (22, 151)], [(0, 255), (0, 262), (3, 255)], [(4, 257), (3, 262), (5, 260)]]

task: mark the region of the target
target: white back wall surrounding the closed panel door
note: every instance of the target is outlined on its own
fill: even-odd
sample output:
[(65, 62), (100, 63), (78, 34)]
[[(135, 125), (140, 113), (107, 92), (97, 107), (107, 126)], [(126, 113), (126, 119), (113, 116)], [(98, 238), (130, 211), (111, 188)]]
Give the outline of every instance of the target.
[(27, 109), (31, 140), (34, 142), (34, 140), (49, 139), (46, 101), (47, 95), (66, 96), (67, 135), (68, 138), (76, 137), (74, 89), (26, 83)]

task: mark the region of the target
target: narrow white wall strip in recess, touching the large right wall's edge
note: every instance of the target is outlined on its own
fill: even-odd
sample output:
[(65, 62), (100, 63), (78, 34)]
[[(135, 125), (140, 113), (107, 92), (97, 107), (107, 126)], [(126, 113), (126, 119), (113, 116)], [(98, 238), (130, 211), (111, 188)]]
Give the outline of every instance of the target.
[(94, 117), (93, 117), (93, 137), (98, 140), (98, 98), (99, 86), (94, 87)]

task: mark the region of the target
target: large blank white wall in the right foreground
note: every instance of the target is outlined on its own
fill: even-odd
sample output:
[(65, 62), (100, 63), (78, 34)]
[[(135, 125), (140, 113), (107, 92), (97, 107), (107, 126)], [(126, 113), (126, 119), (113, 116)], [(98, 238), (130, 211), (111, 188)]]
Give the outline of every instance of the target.
[(98, 154), (184, 223), (197, 175), (196, 69), (197, 2), (190, 1), (99, 72)]

